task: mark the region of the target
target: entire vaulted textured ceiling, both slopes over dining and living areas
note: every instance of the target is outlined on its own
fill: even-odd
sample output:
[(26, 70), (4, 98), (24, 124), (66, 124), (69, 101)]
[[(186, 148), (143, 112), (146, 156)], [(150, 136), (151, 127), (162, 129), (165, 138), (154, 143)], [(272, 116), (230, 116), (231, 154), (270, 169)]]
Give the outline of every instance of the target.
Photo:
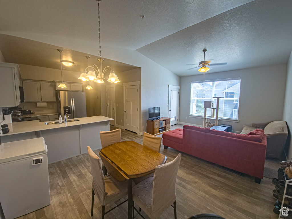
[[(1, 0), (0, 33), (96, 44), (97, 3)], [(227, 62), (211, 72), (287, 63), (292, 50), (291, 11), (291, 0), (281, 4), (277, 0), (102, 0), (101, 42), (137, 50), (179, 76), (199, 73), (187, 70), (186, 64), (202, 61), (204, 48), (207, 60)]]

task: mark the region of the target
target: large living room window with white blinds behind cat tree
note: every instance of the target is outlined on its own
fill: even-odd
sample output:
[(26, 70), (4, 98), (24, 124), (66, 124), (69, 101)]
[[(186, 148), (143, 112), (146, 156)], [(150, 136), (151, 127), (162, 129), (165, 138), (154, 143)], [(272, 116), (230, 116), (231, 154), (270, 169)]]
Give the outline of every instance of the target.
[[(220, 81), (198, 81), (191, 84), (190, 114), (204, 116), (204, 101), (213, 101), (216, 107), (219, 100), (219, 117), (238, 119), (238, 104), (240, 93), (240, 78)], [(207, 116), (211, 116), (211, 109), (207, 109)]]

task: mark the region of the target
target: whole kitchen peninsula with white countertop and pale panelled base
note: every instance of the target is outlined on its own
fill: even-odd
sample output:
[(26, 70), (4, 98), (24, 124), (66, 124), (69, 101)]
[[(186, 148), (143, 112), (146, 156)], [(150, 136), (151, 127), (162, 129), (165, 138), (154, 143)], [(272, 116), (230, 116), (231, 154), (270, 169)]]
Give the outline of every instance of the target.
[(9, 133), (0, 135), (1, 143), (43, 137), (48, 146), (48, 163), (101, 148), (100, 131), (109, 131), (112, 118), (93, 116), (62, 124), (22, 121), (8, 124)]

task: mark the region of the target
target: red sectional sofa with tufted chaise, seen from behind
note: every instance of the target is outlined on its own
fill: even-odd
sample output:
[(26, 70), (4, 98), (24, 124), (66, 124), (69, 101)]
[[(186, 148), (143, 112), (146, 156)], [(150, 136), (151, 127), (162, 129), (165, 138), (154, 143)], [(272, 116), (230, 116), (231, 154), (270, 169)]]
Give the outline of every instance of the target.
[(264, 175), (267, 136), (257, 129), (248, 134), (235, 134), (210, 128), (185, 125), (162, 135), (164, 148), (181, 152), (255, 177)]

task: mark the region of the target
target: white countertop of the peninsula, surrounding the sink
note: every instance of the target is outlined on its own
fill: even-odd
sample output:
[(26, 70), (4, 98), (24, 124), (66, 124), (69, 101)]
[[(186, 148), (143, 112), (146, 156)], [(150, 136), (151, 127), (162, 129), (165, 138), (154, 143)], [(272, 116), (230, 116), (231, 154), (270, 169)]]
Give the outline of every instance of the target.
[[(48, 114), (48, 115), (52, 115), (52, 114)], [(10, 129), (9, 133), (2, 134), (0, 135), (0, 137), (4, 135), (14, 135), (14, 134), (19, 134), (19, 133), (34, 132), (34, 131), (48, 130), (52, 128), (77, 126), (77, 125), (113, 120), (112, 118), (104, 117), (104, 116), (92, 116), (92, 117), (84, 117), (84, 118), (76, 118), (76, 119), (79, 119), (79, 121), (67, 122), (67, 123), (62, 123), (62, 124), (50, 124), (50, 125), (46, 125), (45, 122), (39, 122), (38, 120), (13, 122), (11, 124), (8, 124), (8, 128)], [(52, 121), (48, 121), (48, 122), (52, 122)]]

